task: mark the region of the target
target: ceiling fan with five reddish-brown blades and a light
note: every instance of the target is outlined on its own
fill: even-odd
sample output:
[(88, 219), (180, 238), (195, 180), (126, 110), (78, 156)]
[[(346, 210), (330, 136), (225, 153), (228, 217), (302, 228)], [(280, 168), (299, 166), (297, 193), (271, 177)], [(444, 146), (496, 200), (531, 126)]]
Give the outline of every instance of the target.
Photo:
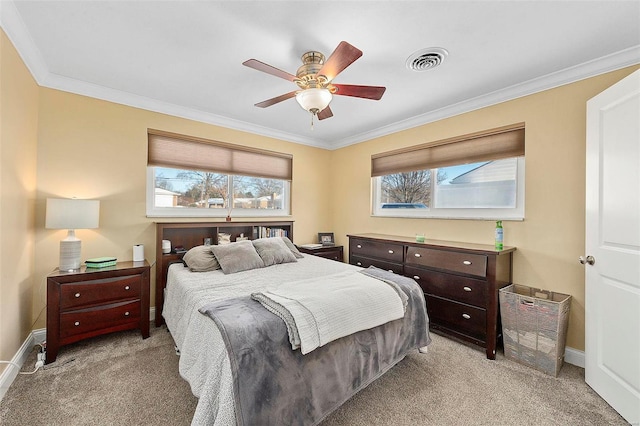
[(386, 90), (385, 87), (333, 83), (333, 79), (360, 56), (362, 56), (361, 50), (346, 41), (342, 41), (326, 61), (324, 55), (320, 52), (313, 50), (306, 52), (302, 55), (302, 66), (298, 68), (296, 75), (289, 74), (256, 59), (249, 59), (243, 62), (242, 65), (296, 83), (299, 87), (298, 90), (267, 99), (255, 104), (255, 106), (266, 108), (295, 97), (298, 104), (311, 113), (311, 127), (313, 128), (314, 116), (318, 117), (318, 120), (333, 117), (331, 108), (329, 108), (333, 95), (352, 96), (376, 101), (382, 98)]

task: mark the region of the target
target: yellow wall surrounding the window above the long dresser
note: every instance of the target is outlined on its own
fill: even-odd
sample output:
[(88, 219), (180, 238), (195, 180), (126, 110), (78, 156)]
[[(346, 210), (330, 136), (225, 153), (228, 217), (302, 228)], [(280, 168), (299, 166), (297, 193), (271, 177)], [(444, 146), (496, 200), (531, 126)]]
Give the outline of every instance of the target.
[[(493, 244), (493, 221), (394, 219), (370, 215), (371, 155), (504, 125), (526, 123), (525, 220), (504, 222), (516, 246), (514, 282), (573, 296), (567, 346), (584, 350), (586, 101), (630, 67), (332, 152), (333, 230)], [(349, 182), (345, 185), (344, 182)], [(340, 183), (340, 184), (339, 184)]]

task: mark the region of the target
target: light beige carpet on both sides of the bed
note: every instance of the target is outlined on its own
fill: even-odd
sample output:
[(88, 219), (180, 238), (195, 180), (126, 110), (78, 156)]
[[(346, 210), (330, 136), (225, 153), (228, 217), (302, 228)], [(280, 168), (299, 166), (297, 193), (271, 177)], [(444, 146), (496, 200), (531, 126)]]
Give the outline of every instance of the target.
[[(626, 425), (565, 364), (557, 378), (432, 334), (322, 426)], [(35, 364), (34, 351), (23, 371)], [(165, 327), (114, 333), (61, 348), (55, 363), (19, 375), (0, 402), (0, 424), (188, 425), (197, 399), (178, 374)]]

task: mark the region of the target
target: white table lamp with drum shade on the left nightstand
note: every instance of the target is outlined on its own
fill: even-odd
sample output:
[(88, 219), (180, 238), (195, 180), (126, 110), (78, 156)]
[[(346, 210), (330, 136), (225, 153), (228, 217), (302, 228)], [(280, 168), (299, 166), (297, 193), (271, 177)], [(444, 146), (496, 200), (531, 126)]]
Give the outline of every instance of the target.
[(45, 228), (69, 230), (67, 238), (60, 241), (60, 271), (80, 269), (82, 241), (76, 237), (75, 230), (97, 228), (99, 217), (99, 200), (47, 198)]

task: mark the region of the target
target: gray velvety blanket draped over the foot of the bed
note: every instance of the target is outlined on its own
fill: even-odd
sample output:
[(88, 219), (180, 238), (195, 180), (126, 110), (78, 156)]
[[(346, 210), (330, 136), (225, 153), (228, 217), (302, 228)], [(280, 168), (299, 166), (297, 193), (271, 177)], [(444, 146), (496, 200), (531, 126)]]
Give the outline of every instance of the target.
[(405, 316), (306, 355), (291, 350), (285, 323), (249, 296), (200, 309), (229, 352), (238, 425), (316, 425), (410, 350), (430, 343), (416, 282), (377, 268), (367, 273), (400, 286), (409, 297)]

